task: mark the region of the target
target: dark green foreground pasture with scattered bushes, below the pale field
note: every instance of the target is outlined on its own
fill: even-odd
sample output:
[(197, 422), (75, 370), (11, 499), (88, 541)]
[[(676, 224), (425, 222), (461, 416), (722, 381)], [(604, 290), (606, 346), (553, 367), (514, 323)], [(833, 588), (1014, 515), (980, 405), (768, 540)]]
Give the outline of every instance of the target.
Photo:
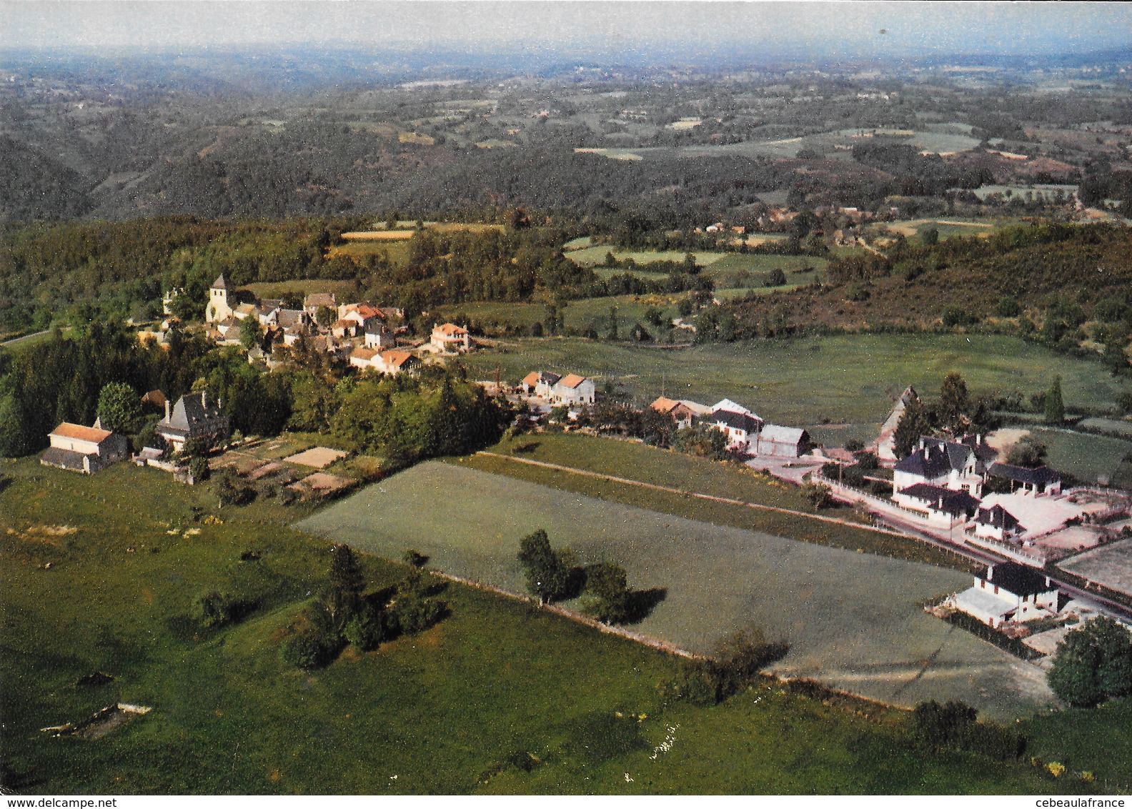
[[(898, 711), (823, 704), (769, 680), (715, 708), (666, 704), (658, 685), (676, 674), (672, 657), (463, 586), (444, 592), (452, 614), (426, 634), (372, 653), (348, 649), (305, 674), (278, 655), (280, 637), (327, 565), (324, 541), (281, 524), (301, 513), (269, 504), (217, 509), (207, 489), (128, 465), (82, 477), (33, 458), (0, 462), (0, 471), (14, 479), (0, 492), (6, 790), (1081, 789), (1029, 763), (921, 752), (907, 741)], [(194, 522), (194, 507), (223, 525)], [(248, 550), (260, 559), (241, 562)], [(377, 588), (404, 569), (367, 557), (365, 573)], [(258, 604), (240, 623), (201, 630), (191, 604), (214, 588)], [(93, 671), (114, 680), (76, 685)], [(96, 741), (38, 731), (117, 700), (153, 711)], [(657, 752), (669, 728), (675, 739)], [(1106, 730), (1106, 756), (1114, 732)], [(1058, 737), (1052, 741), (1057, 755)], [(1101, 758), (1088, 738), (1074, 739), (1073, 750), (1082, 768)]]

